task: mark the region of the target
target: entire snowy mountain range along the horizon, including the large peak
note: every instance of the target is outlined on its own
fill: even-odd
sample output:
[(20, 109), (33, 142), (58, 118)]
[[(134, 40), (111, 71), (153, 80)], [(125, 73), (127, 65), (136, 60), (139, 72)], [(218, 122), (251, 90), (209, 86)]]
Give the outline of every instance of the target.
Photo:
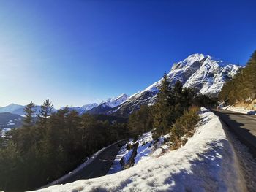
[[(173, 64), (167, 77), (171, 85), (179, 80), (184, 87), (197, 88), (202, 94), (217, 96), (224, 83), (230, 80), (238, 72), (238, 69), (239, 66), (225, 63), (212, 58), (210, 55), (193, 54), (189, 55), (184, 61)], [(69, 109), (78, 111), (80, 115), (89, 112), (90, 114), (127, 116), (138, 110), (142, 104), (153, 104), (161, 82), (162, 79), (132, 96), (121, 94), (121, 96), (108, 99), (100, 104), (86, 104), (82, 107), (69, 107)], [(39, 108), (37, 106), (37, 113)], [(10, 104), (6, 107), (0, 107), (0, 112), (24, 115), (23, 109), (24, 106), (22, 105)]]

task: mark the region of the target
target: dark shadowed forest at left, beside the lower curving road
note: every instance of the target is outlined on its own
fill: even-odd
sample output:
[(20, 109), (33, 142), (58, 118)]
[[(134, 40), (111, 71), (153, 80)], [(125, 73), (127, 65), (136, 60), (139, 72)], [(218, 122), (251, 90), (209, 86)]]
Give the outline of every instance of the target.
[[(129, 137), (126, 123), (113, 117), (78, 115), (68, 108), (53, 112), (47, 99), (34, 115), (31, 102), (23, 126), (0, 137), (0, 191), (39, 188), (67, 174), (86, 157)], [(105, 120), (101, 120), (105, 119)]]

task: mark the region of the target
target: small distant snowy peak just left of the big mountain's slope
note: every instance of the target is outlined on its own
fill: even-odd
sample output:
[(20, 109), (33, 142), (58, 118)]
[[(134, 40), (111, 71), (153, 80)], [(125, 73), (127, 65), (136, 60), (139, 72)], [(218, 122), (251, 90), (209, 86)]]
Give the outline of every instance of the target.
[(127, 101), (127, 99), (129, 99), (129, 96), (127, 94), (121, 94), (116, 98), (103, 101), (102, 103), (99, 104), (99, 106), (92, 108), (88, 112), (91, 114), (107, 113), (108, 111), (112, 110), (114, 107), (117, 107), (123, 104), (125, 101)]

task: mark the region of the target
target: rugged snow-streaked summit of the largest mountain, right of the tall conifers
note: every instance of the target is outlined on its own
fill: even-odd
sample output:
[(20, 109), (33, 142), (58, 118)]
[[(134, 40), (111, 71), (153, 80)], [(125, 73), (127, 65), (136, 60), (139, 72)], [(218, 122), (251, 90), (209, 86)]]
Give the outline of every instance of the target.
[(217, 96), (224, 83), (238, 69), (239, 66), (225, 63), (210, 55), (193, 54), (174, 64), (167, 76), (173, 84), (179, 80), (184, 87), (197, 88), (202, 94)]

